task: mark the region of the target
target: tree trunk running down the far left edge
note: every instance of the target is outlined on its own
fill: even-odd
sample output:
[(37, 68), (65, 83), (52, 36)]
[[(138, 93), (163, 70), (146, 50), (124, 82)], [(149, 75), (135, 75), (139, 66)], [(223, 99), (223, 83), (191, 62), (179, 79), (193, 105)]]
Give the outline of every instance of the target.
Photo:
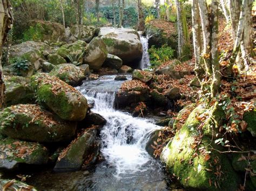
[(11, 4), (9, 0), (1, 0), (0, 3), (0, 108), (3, 106), (4, 102), (4, 76), (3, 76), (3, 69), (2, 69), (2, 48), (3, 44), (6, 40), (8, 31), (12, 27), (12, 13), (11, 13)]

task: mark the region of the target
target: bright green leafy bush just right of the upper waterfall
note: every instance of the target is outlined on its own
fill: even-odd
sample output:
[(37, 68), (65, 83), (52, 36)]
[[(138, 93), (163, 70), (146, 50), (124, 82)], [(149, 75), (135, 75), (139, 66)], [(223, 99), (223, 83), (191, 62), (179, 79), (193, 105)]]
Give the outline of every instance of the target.
[(174, 50), (163, 45), (160, 48), (156, 48), (154, 45), (149, 49), (151, 68), (157, 68), (161, 63), (173, 58)]

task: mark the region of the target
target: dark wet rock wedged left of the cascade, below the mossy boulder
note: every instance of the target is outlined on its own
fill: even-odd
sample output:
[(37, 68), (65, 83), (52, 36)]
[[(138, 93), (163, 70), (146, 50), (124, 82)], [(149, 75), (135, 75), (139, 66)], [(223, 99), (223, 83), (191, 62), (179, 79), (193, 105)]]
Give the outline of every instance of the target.
[(90, 125), (105, 125), (106, 119), (95, 112), (89, 112), (83, 121), (78, 122), (78, 126), (85, 128)]

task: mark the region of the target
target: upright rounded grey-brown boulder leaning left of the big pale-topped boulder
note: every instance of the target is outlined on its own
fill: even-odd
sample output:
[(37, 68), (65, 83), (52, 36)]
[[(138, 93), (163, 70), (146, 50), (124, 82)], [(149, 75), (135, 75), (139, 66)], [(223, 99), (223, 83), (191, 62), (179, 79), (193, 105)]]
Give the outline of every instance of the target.
[(98, 70), (102, 67), (106, 58), (107, 48), (105, 43), (98, 37), (93, 38), (87, 47), (84, 62), (87, 63), (91, 69)]

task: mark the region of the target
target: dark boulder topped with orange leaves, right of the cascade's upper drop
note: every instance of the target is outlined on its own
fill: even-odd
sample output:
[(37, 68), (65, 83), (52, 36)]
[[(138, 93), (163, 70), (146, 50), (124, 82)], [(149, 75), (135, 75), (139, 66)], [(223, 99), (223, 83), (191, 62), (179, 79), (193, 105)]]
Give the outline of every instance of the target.
[(134, 103), (147, 102), (150, 100), (149, 91), (149, 87), (139, 80), (126, 81), (116, 94), (114, 106), (125, 108)]

